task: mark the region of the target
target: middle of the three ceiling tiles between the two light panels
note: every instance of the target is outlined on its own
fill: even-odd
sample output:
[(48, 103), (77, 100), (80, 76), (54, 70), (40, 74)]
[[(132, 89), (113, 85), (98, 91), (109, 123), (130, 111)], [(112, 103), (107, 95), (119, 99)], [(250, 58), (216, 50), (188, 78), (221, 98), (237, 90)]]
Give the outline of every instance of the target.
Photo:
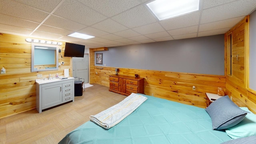
[(119, 32), (119, 31), (128, 29), (125, 26), (118, 24), (117, 22), (111, 19), (107, 19), (97, 24), (94, 24), (92, 25), (92, 27), (97, 28), (99, 30), (103, 30), (105, 32), (110, 32), (110, 33)]

